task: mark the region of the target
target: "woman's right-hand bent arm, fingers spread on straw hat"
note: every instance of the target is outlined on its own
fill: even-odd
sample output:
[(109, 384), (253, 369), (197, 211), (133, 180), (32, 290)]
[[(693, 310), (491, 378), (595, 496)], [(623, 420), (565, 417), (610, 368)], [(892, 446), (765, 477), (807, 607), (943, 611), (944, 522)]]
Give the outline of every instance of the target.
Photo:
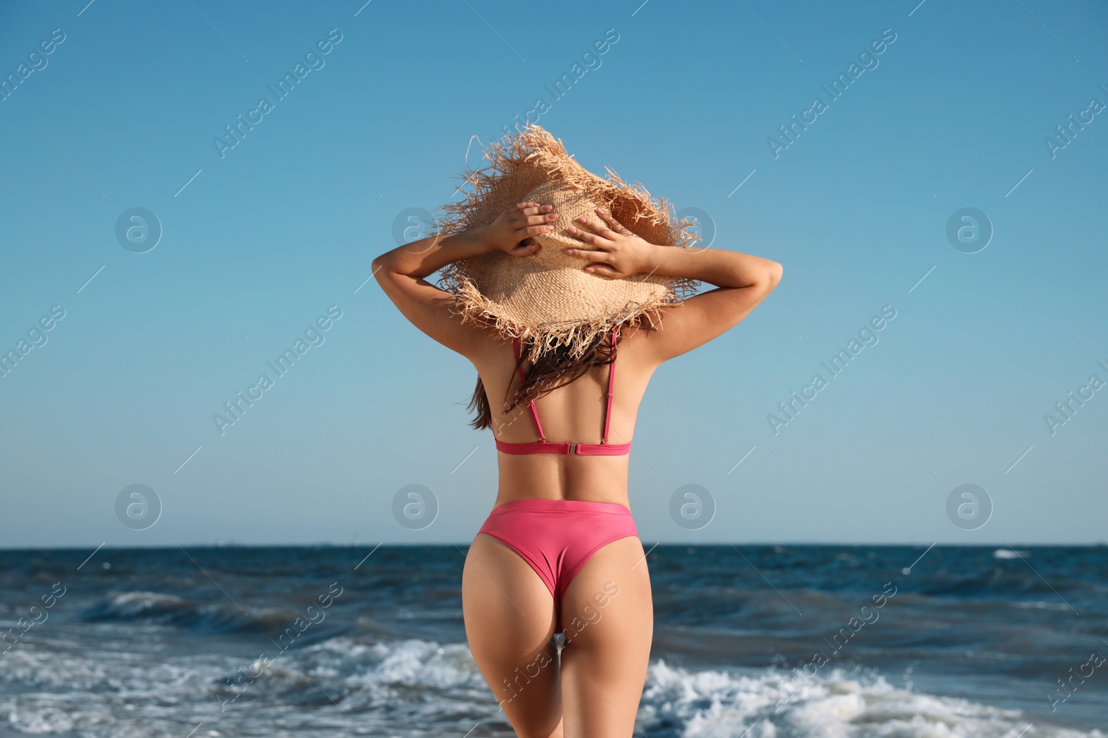
[(720, 249), (678, 249), (648, 243), (627, 230), (604, 210), (603, 222), (578, 218), (583, 229), (568, 228), (571, 236), (599, 251), (567, 249), (571, 256), (596, 262), (586, 267), (607, 277), (661, 274), (686, 277), (716, 284), (678, 304), (659, 309), (660, 331), (648, 331), (644, 345), (660, 364), (731, 330), (765, 300), (781, 281), (783, 268), (761, 257)]

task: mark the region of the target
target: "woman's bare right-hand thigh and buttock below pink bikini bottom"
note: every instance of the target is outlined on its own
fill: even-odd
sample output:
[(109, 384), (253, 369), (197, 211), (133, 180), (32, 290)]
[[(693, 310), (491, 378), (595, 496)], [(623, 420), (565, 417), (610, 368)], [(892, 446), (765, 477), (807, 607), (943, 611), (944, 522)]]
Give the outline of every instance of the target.
[(643, 544), (597, 551), (562, 599), (562, 710), (566, 738), (629, 737), (646, 683), (654, 604)]

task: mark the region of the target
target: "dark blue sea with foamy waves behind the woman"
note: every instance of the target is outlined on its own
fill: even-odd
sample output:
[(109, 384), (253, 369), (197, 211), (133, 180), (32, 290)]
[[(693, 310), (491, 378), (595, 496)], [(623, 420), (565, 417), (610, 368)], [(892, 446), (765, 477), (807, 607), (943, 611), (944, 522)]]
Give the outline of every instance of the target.
[[(1108, 737), (1106, 547), (648, 548), (636, 736)], [(464, 555), (0, 551), (0, 738), (514, 736)]]

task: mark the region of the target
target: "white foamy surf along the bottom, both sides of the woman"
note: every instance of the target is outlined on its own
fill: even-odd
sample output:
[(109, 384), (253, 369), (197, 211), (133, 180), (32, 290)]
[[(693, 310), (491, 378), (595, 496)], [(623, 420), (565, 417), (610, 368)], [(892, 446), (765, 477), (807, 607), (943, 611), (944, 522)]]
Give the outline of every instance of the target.
[[(136, 738), (185, 735), (201, 720), (218, 730), (208, 735), (225, 736), (322, 737), (349, 732), (351, 721), (372, 735), (414, 735), (413, 726), (461, 735), (478, 721), (507, 729), (464, 643), (331, 637), (280, 655), (265, 676), (228, 690), (235, 667), (226, 655), (203, 653), (148, 663), (107, 647), (84, 655), (13, 651), (0, 662), (10, 687), (0, 690), (0, 724), (65, 734), (79, 720), (98, 735)], [(1013, 738), (1030, 721), (1019, 710), (897, 687), (866, 669), (834, 668), (801, 682), (777, 668), (693, 669), (659, 659), (648, 668), (636, 735)], [(1030, 732), (1108, 738), (1039, 719)]]

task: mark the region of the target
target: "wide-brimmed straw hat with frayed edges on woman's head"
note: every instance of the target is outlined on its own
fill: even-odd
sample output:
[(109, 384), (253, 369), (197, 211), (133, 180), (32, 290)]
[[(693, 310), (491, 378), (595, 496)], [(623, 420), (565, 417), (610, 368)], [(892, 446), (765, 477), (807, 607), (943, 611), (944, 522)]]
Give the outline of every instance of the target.
[(633, 322), (666, 303), (696, 293), (697, 280), (630, 274), (612, 278), (584, 271), (588, 261), (563, 253), (564, 248), (595, 250), (565, 232), (578, 216), (597, 207), (650, 243), (687, 248), (699, 237), (695, 221), (675, 222), (664, 199), (652, 199), (640, 185), (627, 185), (605, 167), (603, 179), (570, 156), (562, 142), (537, 125), (493, 142), (490, 165), (463, 176), (472, 184), (468, 197), (442, 208), (441, 235), (491, 224), (517, 202), (553, 205), (560, 214), (554, 230), (534, 236), (543, 248), (515, 257), (503, 251), (448, 264), (439, 287), (458, 299), (463, 321), (492, 324), (504, 335), (531, 339), (529, 358), (537, 360), (557, 345), (579, 356), (597, 334)]

